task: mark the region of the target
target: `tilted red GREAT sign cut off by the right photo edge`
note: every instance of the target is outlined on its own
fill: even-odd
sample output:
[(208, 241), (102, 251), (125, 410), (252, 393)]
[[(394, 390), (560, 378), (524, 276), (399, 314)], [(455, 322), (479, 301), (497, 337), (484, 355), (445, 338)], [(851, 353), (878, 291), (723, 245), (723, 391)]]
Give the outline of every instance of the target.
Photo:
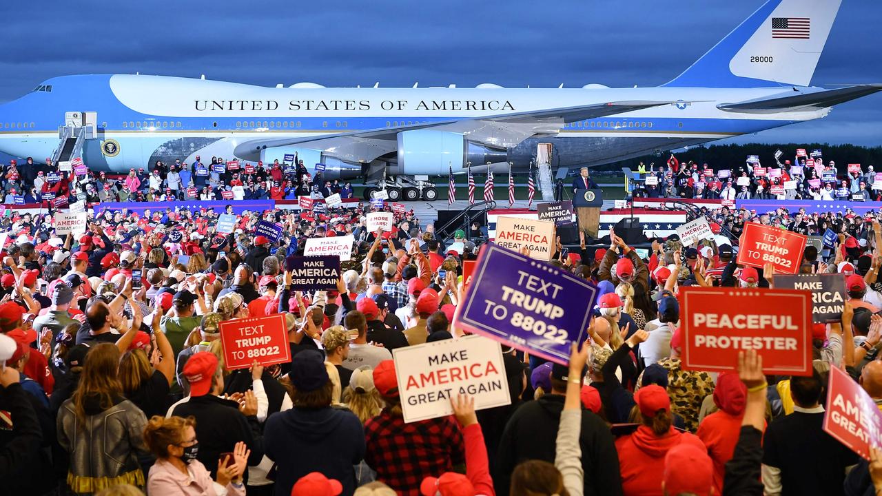
[(824, 431), (870, 460), (870, 448), (882, 445), (882, 411), (860, 384), (830, 367)]

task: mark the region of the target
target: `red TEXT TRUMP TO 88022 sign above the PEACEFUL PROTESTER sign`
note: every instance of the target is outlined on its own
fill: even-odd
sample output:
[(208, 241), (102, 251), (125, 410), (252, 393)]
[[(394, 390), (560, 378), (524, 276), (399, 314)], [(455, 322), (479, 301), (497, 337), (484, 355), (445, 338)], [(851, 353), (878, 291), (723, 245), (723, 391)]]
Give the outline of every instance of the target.
[(738, 249), (738, 263), (763, 267), (767, 263), (781, 274), (796, 274), (803, 260), (809, 237), (789, 230), (764, 226), (756, 222), (744, 224)]

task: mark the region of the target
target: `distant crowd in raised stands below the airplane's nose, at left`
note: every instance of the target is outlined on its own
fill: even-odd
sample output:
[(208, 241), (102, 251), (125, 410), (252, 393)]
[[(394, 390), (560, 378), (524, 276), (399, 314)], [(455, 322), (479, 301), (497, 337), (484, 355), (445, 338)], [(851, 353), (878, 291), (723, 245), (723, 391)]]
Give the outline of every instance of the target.
[[(2, 165), (2, 164), (0, 164)], [(54, 202), (61, 206), (67, 199), (87, 204), (132, 201), (176, 201), (183, 199), (323, 199), (339, 193), (341, 199), (353, 197), (352, 184), (313, 175), (296, 155), (288, 163), (272, 164), (225, 161), (212, 157), (203, 162), (164, 163), (156, 161), (153, 169), (131, 169), (124, 177), (96, 173), (85, 166), (62, 167), (47, 158), (45, 163), (28, 157), (19, 164), (13, 159), (2, 166), (0, 188), (4, 203), (34, 204)]]

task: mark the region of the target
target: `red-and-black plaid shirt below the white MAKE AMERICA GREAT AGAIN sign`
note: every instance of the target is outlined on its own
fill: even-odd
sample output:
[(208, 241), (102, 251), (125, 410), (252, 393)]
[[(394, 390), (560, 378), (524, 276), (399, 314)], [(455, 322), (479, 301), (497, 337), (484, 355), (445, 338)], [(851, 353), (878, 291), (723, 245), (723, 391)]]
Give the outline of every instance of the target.
[(383, 410), (364, 424), (364, 461), (377, 480), (402, 496), (420, 496), (425, 477), (438, 477), (466, 462), (462, 432), (452, 417), (405, 424)]

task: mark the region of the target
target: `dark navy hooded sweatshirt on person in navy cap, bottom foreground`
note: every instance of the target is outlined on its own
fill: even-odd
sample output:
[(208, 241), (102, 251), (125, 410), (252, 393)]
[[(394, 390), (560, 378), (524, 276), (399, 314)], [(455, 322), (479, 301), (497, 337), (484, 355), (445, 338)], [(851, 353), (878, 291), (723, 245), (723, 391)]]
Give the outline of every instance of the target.
[(276, 463), (276, 496), (288, 496), (294, 483), (321, 472), (355, 492), (355, 470), (364, 458), (362, 422), (349, 410), (294, 408), (266, 419), (265, 453)]

